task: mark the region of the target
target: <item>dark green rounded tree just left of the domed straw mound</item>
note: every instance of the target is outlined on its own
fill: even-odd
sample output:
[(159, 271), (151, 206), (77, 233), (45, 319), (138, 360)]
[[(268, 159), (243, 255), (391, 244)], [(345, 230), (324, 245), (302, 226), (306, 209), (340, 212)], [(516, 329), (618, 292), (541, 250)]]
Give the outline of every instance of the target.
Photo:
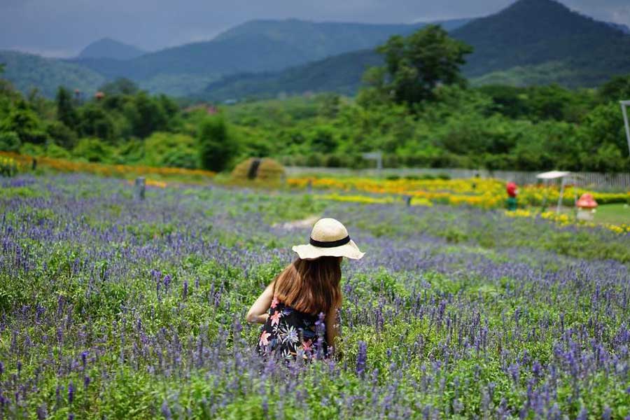
[(211, 171), (226, 169), (238, 151), (221, 116), (208, 117), (202, 121), (198, 140), (201, 166)]

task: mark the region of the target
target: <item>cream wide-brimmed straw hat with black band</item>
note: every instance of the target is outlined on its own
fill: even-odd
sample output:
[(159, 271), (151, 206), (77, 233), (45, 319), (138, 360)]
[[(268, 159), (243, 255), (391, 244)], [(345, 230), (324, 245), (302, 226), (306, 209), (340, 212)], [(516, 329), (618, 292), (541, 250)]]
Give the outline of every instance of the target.
[(333, 218), (319, 219), (311, 231), (310, 243), (295, 245), (292, 249), (302, 260), (315, 260), (326, 256), (359, 260), (364, 255), (350, 239), (346, 227)]

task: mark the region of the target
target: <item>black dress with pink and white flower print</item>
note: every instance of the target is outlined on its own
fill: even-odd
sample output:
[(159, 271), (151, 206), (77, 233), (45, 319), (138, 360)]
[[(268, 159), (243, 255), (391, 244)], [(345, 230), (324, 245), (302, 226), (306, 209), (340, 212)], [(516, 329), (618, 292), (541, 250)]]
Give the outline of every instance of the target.
[(279, 352), (281, 358), (304, 359), (326, 356), (323, 314), (305, 314), (283, 304), (274, 297), (256, 350), (263, 356)]

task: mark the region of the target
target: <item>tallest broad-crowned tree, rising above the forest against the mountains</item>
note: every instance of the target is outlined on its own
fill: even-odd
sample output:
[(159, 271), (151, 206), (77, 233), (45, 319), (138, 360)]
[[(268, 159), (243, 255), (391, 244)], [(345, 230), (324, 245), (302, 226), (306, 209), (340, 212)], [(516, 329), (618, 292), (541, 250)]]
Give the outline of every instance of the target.
[[(438, 85), (465, 85), (460, 66), (472, 47), (449, 37), (437, 25), (428, 25), (409, 36), (395, 35), (377, 48), (385, 56), (384, 80), (372, 86), (384, 89), (394, 102), (416, 104), (433, 99)], [(370, 78), (379, 73), (372, 71)]]

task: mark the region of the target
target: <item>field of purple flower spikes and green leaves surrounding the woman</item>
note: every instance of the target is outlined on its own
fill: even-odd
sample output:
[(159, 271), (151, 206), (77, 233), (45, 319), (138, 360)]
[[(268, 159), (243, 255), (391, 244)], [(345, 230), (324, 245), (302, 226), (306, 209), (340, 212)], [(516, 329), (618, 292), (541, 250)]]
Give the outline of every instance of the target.
[[(248, 306), (308, 216), (340, 359), (262, 360)], [(624, 419), (630, 237), (501, 211), (66, 175), (0, 179), (0, 419)]]

